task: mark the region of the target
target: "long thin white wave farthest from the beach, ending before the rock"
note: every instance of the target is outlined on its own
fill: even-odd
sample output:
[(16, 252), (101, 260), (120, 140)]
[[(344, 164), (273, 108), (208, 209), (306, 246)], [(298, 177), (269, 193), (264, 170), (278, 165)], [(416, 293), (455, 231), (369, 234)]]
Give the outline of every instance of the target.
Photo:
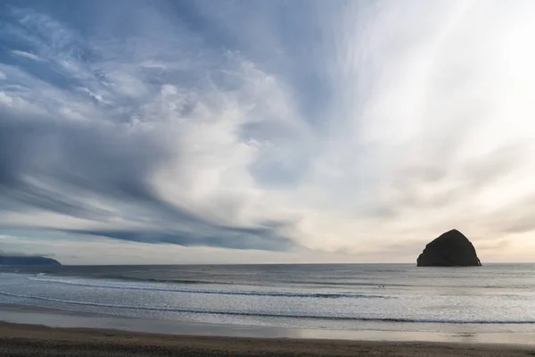
[(310, 297), (310, 298), (368, 298), (368, 299), (387, 299), (393, 298), (385, 295), (364, 295), (364, 294), (337, 294), (337, 293), (291, 293), (276, 291), (251, 291), (251, 290), (223, 290), (223, 289), (194, 289), (178, 286), (131, 286), (126, 284), (112, 284), (110, 282), (99, 281), (98, 283), (82, 282), (76, 280), (65, 280), (55, 278), (28, 278), (33, 281), (66, 284), (72, 286), (89, 286), (101, 287), (120, 290), (145, 290), (145, 291), (165, 291), (172, 293), (189, 293), (189, 294), (209, 294), (209, 295), (248, 295), (248, 296), (277, 296), (277, 297)]

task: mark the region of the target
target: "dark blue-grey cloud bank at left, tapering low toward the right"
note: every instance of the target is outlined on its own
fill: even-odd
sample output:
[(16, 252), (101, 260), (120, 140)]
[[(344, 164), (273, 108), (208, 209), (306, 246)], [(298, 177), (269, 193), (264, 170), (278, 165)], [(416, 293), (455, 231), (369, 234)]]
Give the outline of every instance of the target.
[(142, 220), (149, 228), (158, 227), (152, 233), (78, 232), (135, 241), (275, 250), (290, 245), (272, 232), (275, 228), (225, 227), (167, 202), (152, 187), (150, 175), (169, 153), (153, 142), (152, 132), (76, 120), (51, 127), (47, 118), (4, 115), (0, 133), (4, 210), (39, 209), (108, 225), (111, 220)]

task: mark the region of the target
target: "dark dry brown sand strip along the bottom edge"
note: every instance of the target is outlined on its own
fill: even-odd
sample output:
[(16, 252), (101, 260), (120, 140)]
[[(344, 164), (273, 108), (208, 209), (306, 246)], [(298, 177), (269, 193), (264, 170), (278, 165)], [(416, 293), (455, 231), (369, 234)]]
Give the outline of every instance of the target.
[(535, 356), (535, 346), (170, 336), (0, 323), (0, 356)]

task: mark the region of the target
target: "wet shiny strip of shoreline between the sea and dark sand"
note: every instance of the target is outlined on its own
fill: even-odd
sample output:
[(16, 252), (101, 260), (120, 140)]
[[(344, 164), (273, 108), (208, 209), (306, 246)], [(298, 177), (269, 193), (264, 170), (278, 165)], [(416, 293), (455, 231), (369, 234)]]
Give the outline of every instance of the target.
[[(114, 316), (103, 313), (55, 310), (51, 308), (0, 303), (0, 324), (40, 326), (46, 328), (112, 330), (134, 334), (164, 336), (205, 336), (221, 338), (259, 338), (361, 341), (382, 343), (430, 343), (476, 345), (522, 345), (535, 348), (533, 333), (457, 333), (416, 332), (403, 330), (332, 330), (314, 328), (282, 328), (209, 324), (180, 320), (150, 320), (136, 317)], [(401, 326), (400, 326), (401, 328)], [(534, 354), (535, 355), (535, 354)]]

